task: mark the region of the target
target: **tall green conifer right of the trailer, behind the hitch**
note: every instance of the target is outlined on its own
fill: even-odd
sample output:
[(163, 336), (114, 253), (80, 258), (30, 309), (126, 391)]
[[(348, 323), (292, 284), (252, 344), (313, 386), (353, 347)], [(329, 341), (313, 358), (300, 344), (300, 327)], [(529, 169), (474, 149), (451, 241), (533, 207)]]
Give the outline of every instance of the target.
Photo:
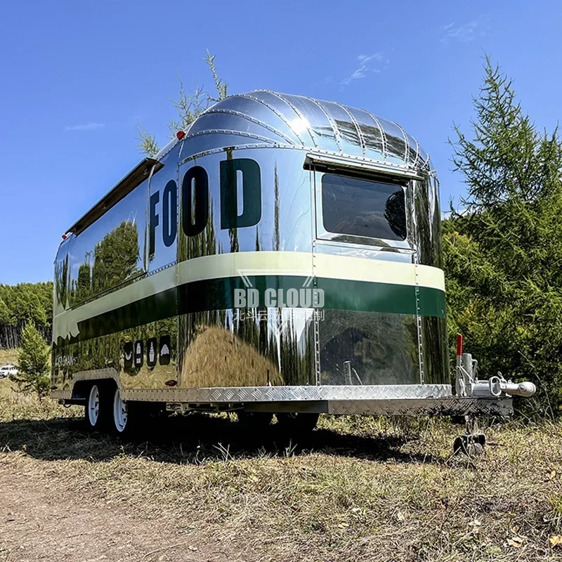
[[(450, 336), (466, 336), (487, 376), (538, 383), (562, 406), (562, 145), (540, 133), (512, 81), (485, 59), (472, 138), (459, 129), (457, 171), (468, 194), (445, 221)], [(547, 400), (550, 395), (551, 404)]]

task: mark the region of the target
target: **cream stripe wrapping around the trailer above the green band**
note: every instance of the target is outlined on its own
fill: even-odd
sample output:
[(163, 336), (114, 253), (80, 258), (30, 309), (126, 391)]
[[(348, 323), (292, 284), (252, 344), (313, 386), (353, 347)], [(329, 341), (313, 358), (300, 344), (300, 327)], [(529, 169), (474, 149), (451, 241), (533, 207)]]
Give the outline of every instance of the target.
[[(346, 281), (366, 282), (370, 284), (367, 287), (378, 285), (378, 292), (382, 291), (385, 285), (418, 287), (420, 295), (429, 294), (425, 291), (425, 288), (435, 289), (437, 292), (430, 293), (437, 295), (439, 291), (445, 291), (443, 270), (414, 263), (329, 254), (311, 256), (311, 254), (302, 251), (247, 251), (214, 254), (171, 264), (154, 274), (134, 280), (125, 287), (119, 287), (114, 292), (100, 295), (80, 306), (58, 313), (53, 320), (53, 341), (67, 339), (70, 336), (78, 338), (80, 334), (79, 325), (90, 318), (116, 311), (122, 308), (124, 303), (148, 299), (146, 303), (149, 310), (137, 309), (132, 314), (133, 317), (136, 315), (139, 318), (142, 315), (155, 315), (155, 318), (161, 319), (158, 315), (162, 313), (152, 311), (152, 306), (166, 309), (166, 302), (170, 298), (168, 291), (171, 291), (172, 295), (177, 295), (178, 286), (186, 284), (192, 286), (196, 282), (219, 282), (220, 279), (230, 277), (247, 278), (247, 275), (261, 277), (266, 275), (314, 276), (317, 279), (334, 280), (338, 285), (340, 282)], [(362, 287), (362, 285), (360, 286)], [(193, 287), (197, 286), (193, 285)], [(240, 287), (240, 285), (237, 287)], [(346, 291), (347, 289), (342, 290)], [(366, 290), (370, 292), (371, 289)], [(391, 294), (396, 294), (397, 290), (391, 291)], [(160, 293), (166, 295), (164, 303), (162, 303), (162, 297), (157, 297)], [(407, 300), (410, 308), (412, 308), (414, 305), (410, 297)], [(369, 299), (372, 300), (372, 297), (370, 296)], [(440, 308), (440, 301), (443, 301), (443, 299), (439, 296), (430, 296), (429, 299), (432, 302), (438, 299), (438, 302), (431, 306), (429, 306), (429, 303), (420, 303), (422, 314), (439, 315), (440, 312), (435, 310)], [(365, 299), (361, 300), (364, 301)], [(380, 301), (381, 297), (378, 300)], [(360, 309), (362, 310), (361, 307)], [(164, 318), (169, 318), (169, 316)]]

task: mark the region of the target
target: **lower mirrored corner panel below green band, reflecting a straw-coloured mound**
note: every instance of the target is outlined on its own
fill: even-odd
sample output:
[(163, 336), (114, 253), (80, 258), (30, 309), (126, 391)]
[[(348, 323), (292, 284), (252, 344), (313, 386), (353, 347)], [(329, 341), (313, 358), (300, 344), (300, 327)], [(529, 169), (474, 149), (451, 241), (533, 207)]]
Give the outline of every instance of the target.
[(315, 383), (312, 311), (202, 311), (181, 315), (179, 330), (181, 388)]

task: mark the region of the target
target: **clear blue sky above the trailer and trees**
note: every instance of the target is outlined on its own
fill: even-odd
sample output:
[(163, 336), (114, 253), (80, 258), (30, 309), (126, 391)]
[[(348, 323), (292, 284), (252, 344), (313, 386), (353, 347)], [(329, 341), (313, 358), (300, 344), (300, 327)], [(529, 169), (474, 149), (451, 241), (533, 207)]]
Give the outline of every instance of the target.
[(562, 3), (37, 0), (0, 22), (0, 283), (48, 280), (65, 229), (133, 167), (140, 120), (161, 143), (177, 73), (365, 107), (431, 154), (441, 199), (464, 190), (447, 137), (466, 131), (483, 52), (532, 119), (561, 115)]

